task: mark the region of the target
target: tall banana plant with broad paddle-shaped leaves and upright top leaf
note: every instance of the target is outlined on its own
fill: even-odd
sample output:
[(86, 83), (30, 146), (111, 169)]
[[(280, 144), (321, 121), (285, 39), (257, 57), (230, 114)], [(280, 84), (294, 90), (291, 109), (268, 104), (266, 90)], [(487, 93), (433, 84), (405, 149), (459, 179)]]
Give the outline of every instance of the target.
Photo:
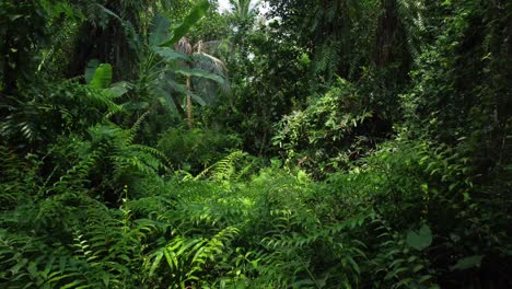
[[(183, 23), (171, 30), (170, 22), (162, 15), (156, 15), (152, 22), (149, 37), (149, 56), (142, 77), (148, 88), (153, 90), (168, 107), (175, 108), (182, 117), (186, 117), (188, 126), (193, 126), (191, 103), (193, 100), (199, 105), (207, 105), (208, 102), (196, 93), (193, 89), (193, 78), (202, 81), (212, 81), (220, 85), (225, 83), (225, 66), (223, 62), (202, 51), (200, 46), (191, 46), (185, 35), (202, 19), (210, 4), (208, 1), (199, 2)], [(209, 63), (211, 67), (220, 69), (207, 70), (198, 68), (198, 63)], [(217, 73), (212, 73), (212, 71)], [(178, 81), (179, 76), (184, 76), (185, 83)], [(186, 115), (179, 101), (179, 96), (186, 97)]]

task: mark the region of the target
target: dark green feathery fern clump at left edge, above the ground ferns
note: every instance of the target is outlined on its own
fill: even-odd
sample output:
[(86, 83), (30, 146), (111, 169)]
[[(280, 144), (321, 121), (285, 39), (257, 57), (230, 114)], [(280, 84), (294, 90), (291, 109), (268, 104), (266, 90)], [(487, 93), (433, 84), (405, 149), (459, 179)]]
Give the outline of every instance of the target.
[(107, 112), (119, 111), (112, 94), (75, 80), (26, 88), (21, 97), (8, 96), (1, 104), (8, 115), (0, 120), (0, 135), (12, 147), (51, 142), (59, 135), (84, 135)]

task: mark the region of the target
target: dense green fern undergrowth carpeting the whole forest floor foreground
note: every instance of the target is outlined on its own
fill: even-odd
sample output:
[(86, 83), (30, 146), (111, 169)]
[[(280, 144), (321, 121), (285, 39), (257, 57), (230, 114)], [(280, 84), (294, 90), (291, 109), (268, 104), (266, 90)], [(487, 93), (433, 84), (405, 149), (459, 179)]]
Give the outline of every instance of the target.
[(50, 185), (40, 160), (1, 153), (7, 288), (439, 288), (510, 250), (479, 222), (509, 217), (485, 207), (467, 160), (428, 142), (385, 143), (325, 182), (278, 162), (247, 174), (242, 152), (196, 177), (141, 170), (115, 207), (67, 176), (94, 171), (94, 154)]

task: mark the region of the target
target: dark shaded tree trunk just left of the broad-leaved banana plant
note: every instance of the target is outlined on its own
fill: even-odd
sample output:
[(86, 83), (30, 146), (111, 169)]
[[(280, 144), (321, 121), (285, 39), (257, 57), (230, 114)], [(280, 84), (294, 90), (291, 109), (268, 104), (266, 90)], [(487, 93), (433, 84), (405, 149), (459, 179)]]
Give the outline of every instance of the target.
[(86, 20), (80, 24), (71, 56), (69, 77), (81, 76), (91, 59), (110, 63), (115, 79), (137, 74), (148, 20), (168, 0), (75, 0)]

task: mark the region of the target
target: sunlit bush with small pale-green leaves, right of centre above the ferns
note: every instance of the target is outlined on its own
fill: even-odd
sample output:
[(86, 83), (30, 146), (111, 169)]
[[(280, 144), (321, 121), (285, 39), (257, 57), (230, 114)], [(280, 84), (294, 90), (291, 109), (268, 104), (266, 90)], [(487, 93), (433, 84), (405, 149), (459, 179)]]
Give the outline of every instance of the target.
[(338, 79), (327, 93), (313, 96), (307, 108), (282, 118), (274, 144), (289, 165), (321, 177), (369, 154), (388, 130), (356, 86)]

